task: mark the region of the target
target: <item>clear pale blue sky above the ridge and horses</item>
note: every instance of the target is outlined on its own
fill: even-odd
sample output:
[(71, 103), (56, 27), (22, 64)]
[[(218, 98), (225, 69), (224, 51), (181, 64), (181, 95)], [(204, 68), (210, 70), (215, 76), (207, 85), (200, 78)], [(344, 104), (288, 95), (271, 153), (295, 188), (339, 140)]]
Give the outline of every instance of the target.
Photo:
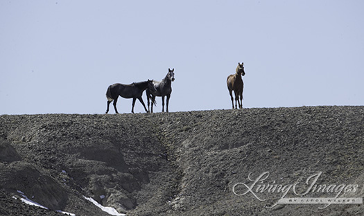
[[(169, 111), (231, 109), (226, 79), (238, 62), (244, 108), (364, 105), (363, 9), (361, 0), (0, 0), (0, 114), (103, 114), (110, 84), (160, 81), (168, 68)], [(130, 113), (132, 99), (117, 108)], [(139, 101), (135, 112), (145, 112)]]

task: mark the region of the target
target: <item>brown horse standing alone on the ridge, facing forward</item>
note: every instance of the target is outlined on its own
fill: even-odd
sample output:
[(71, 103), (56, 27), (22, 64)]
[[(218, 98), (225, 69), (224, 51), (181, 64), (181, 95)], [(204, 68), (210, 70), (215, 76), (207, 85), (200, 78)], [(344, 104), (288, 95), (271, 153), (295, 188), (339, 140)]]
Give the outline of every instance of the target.
[[(243, 62), (241, 64), (238, 62), (238, 66), (236, 67), (236, 73), (229, 75), (227, 77), (227, 89), (229, 89), (230, 97), (232, 98), (232, 109), (234, 109), (234, 98), (232, 97), (232, 91), (235, 93), (235, 108), (237, 109), (237, 105), (239, 104), (239, 108), (243, 108), (243, 79), (241, 75), (245, 75)], [(240, 97), (240, 101), (239, 101)]]

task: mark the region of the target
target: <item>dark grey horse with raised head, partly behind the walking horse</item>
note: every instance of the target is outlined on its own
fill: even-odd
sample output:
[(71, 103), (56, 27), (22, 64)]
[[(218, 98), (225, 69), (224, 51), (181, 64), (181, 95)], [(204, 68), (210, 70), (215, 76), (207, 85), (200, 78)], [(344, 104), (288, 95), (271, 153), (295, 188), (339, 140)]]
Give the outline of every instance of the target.
[(162, 111), (164, 111), (164, 96), (167, 96), (167, 105), (166, 105), (166, 111), (168, 112), (168, 103), (169, 98), (171, 98), (172, 93), (172, 87), (171, 82), (175, 81), (175, 69), (168, 69), (168, 73), (166, 77), (161, 81), (153, 81), (155, 89), (157, 91), (152, 92), (150, 90), (146, 90), (146, 98), (148, 100), (148, 110), (149, 110), (149, 99), (152, 98), (152, 105), (150, 106), (150, 112), (153, 113), (153, 105), (156, 104), (155, 102), (155, 96), (162, 97)]

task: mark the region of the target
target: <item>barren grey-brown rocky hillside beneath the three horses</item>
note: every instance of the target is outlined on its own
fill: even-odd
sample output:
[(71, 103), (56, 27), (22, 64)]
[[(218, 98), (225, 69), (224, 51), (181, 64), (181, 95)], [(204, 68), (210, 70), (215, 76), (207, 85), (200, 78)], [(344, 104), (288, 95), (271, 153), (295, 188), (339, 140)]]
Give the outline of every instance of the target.
[(363, 197), (363, 152), (364, 107), (3, 115), (0, 215), (362, 215), (277, 201)]

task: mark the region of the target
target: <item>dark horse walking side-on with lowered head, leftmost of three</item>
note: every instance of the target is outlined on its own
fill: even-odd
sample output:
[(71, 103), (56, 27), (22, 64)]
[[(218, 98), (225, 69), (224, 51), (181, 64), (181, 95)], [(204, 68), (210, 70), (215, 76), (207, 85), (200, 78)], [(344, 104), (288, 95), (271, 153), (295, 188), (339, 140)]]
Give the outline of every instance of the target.
[[(134, 114), (134, 105), (135, 100), (138, 100), (143, 105), (144, 109), (146, 109), (146, 105), (144, 105), (143, 98), (141, 95), (143, 94), (144, 90), (150, 90), (151, 92), (155, 91), (155, 87), (153, 85), (153, 80), (148, 80), (145, 82), (134, 82), (132, 84), (120, 84), (115, 83), (110, 85), (106, 91), (106, 98), (107, 98), (107, 109), (106, 113), (109, 112), (109, 105), (112, 100), (114, 100), (114, 109), (116, 114), (119, 114), (118, 110), (116, 109), (116, 102), (118, 101), (119, 96), (123, 98), (132, 98), (132, 113)], [(146, 112), (148, 110), (146, 109)]]

